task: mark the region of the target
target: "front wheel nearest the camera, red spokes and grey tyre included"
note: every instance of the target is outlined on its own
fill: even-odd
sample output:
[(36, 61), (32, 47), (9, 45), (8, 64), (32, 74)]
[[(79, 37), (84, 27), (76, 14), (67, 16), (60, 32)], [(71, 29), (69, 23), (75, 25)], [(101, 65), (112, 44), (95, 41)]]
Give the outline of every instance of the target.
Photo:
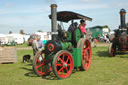
[(62, 79), (71, 75), (74, 68), (72, 55), (68, 51), (59, 51), (53, 58), (52, 69), (54, 74)]

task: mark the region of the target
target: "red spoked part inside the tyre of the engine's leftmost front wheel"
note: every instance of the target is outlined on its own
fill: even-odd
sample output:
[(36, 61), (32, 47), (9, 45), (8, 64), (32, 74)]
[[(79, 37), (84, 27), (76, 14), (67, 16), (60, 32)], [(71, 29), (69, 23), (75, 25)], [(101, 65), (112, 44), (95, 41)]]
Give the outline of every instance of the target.
[(39, 53), (35, 60), (35, 70), (39, 75), (47, 75), (51, 71), (51, 66), (44, 61), (44, 53)]

